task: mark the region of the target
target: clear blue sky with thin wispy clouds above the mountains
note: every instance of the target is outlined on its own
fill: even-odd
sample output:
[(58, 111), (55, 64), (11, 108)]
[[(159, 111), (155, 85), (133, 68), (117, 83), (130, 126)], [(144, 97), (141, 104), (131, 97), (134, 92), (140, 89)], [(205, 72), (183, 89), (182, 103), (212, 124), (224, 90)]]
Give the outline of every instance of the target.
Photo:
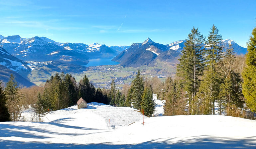
[(246, 47), (256, 26), (255, 0), (0, 0), (0, 34), (57, 42), (131, 45), (147, 37), (168, 44), (193, 26), (204, 36), (214, 24), (223, 39)]

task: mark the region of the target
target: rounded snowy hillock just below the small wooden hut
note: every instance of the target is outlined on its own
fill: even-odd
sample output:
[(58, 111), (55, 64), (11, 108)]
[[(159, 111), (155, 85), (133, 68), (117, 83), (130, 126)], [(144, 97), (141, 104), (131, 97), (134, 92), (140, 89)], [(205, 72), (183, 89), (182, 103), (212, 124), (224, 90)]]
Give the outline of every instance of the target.
[[(72, 124), (82, 127), (82, 126), (85, 126), (86, 124), (80, 122), (80, 121), (83, 121), (83, 119), (80, 119), (81, 115), (83, 116), (88, 115), (87, 119), (90, 119), (90, 117), (92, 117), (90, 115), (93, 115), (93, 119), (95, 119), (94, 115), (96, 115), (97, 119), (98, 117), (100, 117), (100, 119), (104, 120), (104, 123), (101, 123), (100, 126), (97, 126), (97, 128), (105, 129), (109, 127), (117, 128), (120, 126), (125, 126), (142, 119), (142, 114), (138, 112), (138, 110), (132, 109), (130, 107), (113, 107), (110, 105), (105, 105), (105, 104), (96, 103), (96, 102), (88, 103), (87, 106), (88, 106), (87, 108), (77, 109), (77, 105), (74, 105), (66, 109), (50, 112), (44, 117), (44, 120), (45, 122), (49, 122), (49, 121), (59, 122), (59, 119), (67, 119), (67, 117), (72, 117), (73, 119)], [(67, 121), (61, 121), (60, 123), (70, 124)], [(82, 124), (82, 125), (77, 125), (77, 124)], [(95, 127), (94, 121), (92, 123), (87, 123), (87, 124), (91, 124), (91, 125), (90, 126), (86, 125), (86, 127)]]

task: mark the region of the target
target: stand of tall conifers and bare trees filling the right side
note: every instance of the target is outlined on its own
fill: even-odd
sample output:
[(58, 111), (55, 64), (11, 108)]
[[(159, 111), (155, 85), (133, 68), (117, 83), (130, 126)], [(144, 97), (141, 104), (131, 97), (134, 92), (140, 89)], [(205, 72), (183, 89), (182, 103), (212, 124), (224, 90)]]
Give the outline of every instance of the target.
[[(233, 45), (229, 44), (229, 48), (224, 49), (222, 36), (214, 25), (207, 39), (198, 28), (193, 27), (180, 55), (176, 77), (167, 78), (165, 82), (165, 115), (215, 114), (217, 108), (219, 115), (247, 118), (247, 106), (255, 112), (255, 97), (252, 96), (256, 86), (253, 85), (255, 80), (252, 79), (256, 77), (255, 63), (252, 63), (255, 62), (256, 51), (255, 29), (253, 34), (254, 37), (248, 42), (247, 67), (243, 73), (243, 82), (243, 61), (240, 56), (237, 58), (235, 55)], [(250, 54), (250, 51), (254, 52), (254, 55)], [(248, 69), (249, 66), (253, 68)], [(249, 83), (246, 83), (246, 75)], [(247, 91), (249, 98), (246, 97)]]

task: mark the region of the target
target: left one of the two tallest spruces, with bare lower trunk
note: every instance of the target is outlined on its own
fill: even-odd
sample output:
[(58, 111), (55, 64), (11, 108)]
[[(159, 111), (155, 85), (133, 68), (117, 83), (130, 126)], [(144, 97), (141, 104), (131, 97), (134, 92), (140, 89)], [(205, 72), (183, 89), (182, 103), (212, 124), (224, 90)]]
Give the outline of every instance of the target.
[(194, 101), (195, 94), (198, 91), (198, 76), (203, 71), (203, 50), (205, 37), (199, 32), (198, 28), (192, 28), (189, 33), (185, 47), (182, 50), (180, 64), (177, 65), (177, 75), (182, 77), (184, 90), (187, 91), (189, 99), (189, 113), (195, 114)]

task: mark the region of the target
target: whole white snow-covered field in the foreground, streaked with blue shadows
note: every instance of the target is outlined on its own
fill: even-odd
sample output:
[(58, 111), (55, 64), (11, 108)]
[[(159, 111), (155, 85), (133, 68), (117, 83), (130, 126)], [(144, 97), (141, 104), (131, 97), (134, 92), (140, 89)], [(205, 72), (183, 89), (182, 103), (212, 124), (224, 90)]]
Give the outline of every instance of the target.
[(256, 148), (256, 121), (242, 118), (164, 116), (143, 125), (135, 109), (89, 103), (44, 120), (0, 123), (0, 148)]

